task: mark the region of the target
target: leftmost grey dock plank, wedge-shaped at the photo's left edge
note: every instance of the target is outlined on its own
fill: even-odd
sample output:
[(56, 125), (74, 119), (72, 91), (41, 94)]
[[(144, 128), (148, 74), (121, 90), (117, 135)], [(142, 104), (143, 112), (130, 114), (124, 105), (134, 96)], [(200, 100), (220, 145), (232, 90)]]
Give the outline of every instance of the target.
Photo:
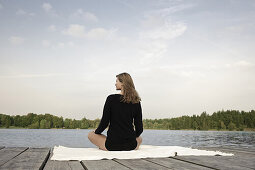
[(5, 147), (1, 149), (0, 150), (0, 167), (27, 149), (28, 147)]

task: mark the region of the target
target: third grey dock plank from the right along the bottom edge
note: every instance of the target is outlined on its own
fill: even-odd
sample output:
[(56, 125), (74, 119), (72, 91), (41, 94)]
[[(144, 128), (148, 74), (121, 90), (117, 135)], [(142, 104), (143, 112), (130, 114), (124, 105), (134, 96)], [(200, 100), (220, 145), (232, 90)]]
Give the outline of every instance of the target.
[(155, 169), (170, 169), (164, 165), (159, 165), (145, 159), (113, 159), (114, 161), (129, 167), (130, 169), (139, 169), (139, 170), (155, 170)]

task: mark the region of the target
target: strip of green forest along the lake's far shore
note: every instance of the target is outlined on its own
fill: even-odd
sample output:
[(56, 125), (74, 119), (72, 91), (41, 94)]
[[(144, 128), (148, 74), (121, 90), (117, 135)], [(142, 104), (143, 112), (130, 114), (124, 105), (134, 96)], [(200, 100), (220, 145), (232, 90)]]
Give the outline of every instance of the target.
[[(34, 114), (10, 116), (0, 114), (0, 128), (29, 128), (29, 129), (96, 129), (100, 119), (81, 120), (54, 116), (51, 114)], [(200, 115), (181, 116), (165, 119), (143, 119), (144, 129), (166, 130), (255, 130), (255, 111), (221, 110), (212, 115), (206, 112)]]

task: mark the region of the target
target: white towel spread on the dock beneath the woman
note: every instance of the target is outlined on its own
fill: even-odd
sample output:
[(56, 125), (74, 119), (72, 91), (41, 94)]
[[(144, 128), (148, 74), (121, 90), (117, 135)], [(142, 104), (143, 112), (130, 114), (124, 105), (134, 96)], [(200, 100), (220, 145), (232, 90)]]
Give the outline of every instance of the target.
[(140, 145), (138, 150), (131, 151), (104, 151), (99, 148), (71, 148), (65, 146), (54, 146), (53, 156), (50, 160), (101, 160), (101, 159), (138, 159), (138, 158), (160, 158), (175, 156), (233, 156), (232, 153), (220, 151), (206, 151), (180, 146), (155, 146)]

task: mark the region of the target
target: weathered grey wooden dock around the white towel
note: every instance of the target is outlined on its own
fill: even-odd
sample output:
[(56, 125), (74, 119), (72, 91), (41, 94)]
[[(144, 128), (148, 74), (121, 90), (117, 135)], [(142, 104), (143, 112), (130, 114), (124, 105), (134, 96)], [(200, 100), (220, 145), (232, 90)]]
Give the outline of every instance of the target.
[(234, 153), (235, 156), (174, 156), (167, 158), (103, 159), (52, 161), (53, 148), (1, 147), (0, 169), (75, 169), (75, 170), (165, 170), (165, 169), (255, 169), (255, 150), (199, 148)]

